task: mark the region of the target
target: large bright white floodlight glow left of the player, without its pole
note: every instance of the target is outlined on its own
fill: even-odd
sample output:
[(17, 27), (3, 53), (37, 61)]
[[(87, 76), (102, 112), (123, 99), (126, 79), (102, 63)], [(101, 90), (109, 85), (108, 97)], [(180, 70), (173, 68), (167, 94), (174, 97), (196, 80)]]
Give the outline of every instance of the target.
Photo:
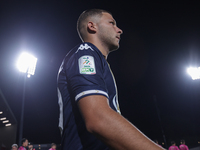
[(28, 53), (22, 53), (17, 61), (17, 68), (19, 71), (27, 73), (28, 76), (34, 75), (37, 58)]

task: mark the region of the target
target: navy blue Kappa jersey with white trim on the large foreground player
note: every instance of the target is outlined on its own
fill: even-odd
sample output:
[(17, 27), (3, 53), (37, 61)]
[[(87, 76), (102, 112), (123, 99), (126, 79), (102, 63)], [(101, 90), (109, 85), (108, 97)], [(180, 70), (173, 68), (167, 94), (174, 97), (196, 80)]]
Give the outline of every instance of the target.
[(96, 46), (83, 43), (65, 56), (58, 73), (62, 150), (108, 149), (87, 131), (79, 112), (77, 102), (89, 95), (107, 97), (110, 107), (120, 113), (115, 80), (106, 59)]

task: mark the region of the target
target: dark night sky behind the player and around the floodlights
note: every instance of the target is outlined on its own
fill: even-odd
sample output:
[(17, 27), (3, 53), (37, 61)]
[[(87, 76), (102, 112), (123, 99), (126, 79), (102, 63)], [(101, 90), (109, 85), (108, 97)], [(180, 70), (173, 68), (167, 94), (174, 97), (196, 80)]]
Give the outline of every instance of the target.
[(200, 140), (200, 81), (186, 68), (200, 65), (199, 3), (156, 1), (1, 1), (0, 88), (18, 122), (23, 74), (20, 52), (38, 58), (27, 80), (24, 137), (33, 143), (59, 144), (56, 77), (65, 54), (80, 43), (76, 21), (82, 11), (113, 13), (123, 30), (120, 49), (108, 62), (115, 75), (122, 115), (151, 139), (163, 141), (153, 97), (169, 145)]

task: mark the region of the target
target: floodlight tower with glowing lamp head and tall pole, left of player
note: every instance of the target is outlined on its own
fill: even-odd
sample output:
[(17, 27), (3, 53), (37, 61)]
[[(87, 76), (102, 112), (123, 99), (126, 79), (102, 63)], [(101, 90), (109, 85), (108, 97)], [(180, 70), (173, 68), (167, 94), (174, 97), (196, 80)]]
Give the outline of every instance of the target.
[(25, 73), (24, 76), (24, 87), (23, 87), (23, 97), (22, 97), (22, 111), (21, 111), (21, 119), (20, 119), (20, 129), (19, 129), (19, 145), (22, 140), (23, 134), (23, 120), (24, 120), (24, 101), (25, 101), (25, 92), (26, 92), (26, 78), (30, 78), (31, 75), (35, 74), (35, 68), (37, 64), (37, 58), (31, 54), (23, 52), (17, 61), (17, 68), (20, 72)]

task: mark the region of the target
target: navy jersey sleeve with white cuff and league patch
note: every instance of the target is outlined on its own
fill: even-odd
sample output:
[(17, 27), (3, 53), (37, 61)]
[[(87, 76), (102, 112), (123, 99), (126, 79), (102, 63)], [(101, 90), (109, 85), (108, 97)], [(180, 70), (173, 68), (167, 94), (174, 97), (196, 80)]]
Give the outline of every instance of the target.
[(92, 48), (77, 50), (66, 62), (68, 89), (75, 101), (89, 95), (108, 97), (103, 76), (104, 63), (98, 52)]

